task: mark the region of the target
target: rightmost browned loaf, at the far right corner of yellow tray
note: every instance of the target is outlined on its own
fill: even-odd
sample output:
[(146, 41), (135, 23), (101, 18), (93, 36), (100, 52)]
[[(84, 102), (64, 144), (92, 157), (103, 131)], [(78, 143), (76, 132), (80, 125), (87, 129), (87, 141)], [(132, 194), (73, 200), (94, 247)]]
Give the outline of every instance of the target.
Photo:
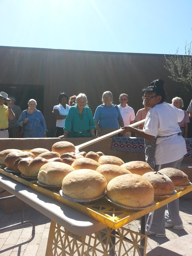
[(189, 185), (190, 181), (188, 179), (188, 176), (181, 170), (167, 167), (161, 169), (159, 172), (167, 175), (172, 180), (173, 185), (176, 187), (183, 187)]

